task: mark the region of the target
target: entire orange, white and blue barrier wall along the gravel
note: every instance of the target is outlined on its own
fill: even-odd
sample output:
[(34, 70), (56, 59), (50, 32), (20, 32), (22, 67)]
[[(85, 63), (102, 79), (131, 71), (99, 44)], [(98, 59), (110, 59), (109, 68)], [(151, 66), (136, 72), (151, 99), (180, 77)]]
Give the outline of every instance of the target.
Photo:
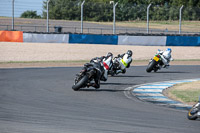
[(200, 36), (128, 36), (91, 34), (39, 34), (0, 31), (0, 42), (110, 44), (140, 46), (200, 46)]

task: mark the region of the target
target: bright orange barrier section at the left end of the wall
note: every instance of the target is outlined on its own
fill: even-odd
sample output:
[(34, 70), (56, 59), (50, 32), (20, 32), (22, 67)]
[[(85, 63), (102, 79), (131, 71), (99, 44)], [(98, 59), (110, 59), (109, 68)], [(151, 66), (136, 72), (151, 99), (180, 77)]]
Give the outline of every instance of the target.
[(23, 42), (23, 32), (0, 31), (0, 42)]

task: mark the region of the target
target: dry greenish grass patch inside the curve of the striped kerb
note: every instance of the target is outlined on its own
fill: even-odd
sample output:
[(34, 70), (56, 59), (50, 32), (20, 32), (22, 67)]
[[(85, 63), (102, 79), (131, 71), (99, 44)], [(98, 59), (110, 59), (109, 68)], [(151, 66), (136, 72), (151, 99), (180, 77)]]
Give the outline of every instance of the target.
[(184, 102), (197, 102), (200, 96), (200, 90), (172, 90), (171, 93)]

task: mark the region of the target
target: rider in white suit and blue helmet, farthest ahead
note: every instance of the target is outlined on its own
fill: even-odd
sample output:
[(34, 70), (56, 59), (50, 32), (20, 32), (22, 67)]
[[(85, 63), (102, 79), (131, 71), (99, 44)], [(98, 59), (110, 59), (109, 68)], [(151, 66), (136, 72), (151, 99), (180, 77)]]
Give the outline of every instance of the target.
[[(174, 60), (171, 56), (171, 52), (172, 52), (171, 48), (167, 48), (165, 51), (158, 49), (157, 53), (160, 54), (160, 56), (161, 56), (162, 62), (164, 64), (163, 68), (168, 69), (170, 66), (169, 62)], [(161, 68), (159, 68), (159, 69), (161, 69)]]

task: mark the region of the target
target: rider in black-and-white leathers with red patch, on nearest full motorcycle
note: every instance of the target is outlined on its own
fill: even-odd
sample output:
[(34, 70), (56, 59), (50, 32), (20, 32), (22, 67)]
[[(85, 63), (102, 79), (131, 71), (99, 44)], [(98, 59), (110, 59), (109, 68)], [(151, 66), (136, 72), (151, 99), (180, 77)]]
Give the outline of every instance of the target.
[(113, 54), (109, 52), (106, 56), (95, 57), (90, 60), (89, 64), (92, 64), (97, 68), (98, 72), (95, 76), (95, 83), (87, 84), (87, 87), (93, 86), (95, 88), (100, 88), (100, 80), (106, 81), (108, 79), (108, 70), (112, 66)]

